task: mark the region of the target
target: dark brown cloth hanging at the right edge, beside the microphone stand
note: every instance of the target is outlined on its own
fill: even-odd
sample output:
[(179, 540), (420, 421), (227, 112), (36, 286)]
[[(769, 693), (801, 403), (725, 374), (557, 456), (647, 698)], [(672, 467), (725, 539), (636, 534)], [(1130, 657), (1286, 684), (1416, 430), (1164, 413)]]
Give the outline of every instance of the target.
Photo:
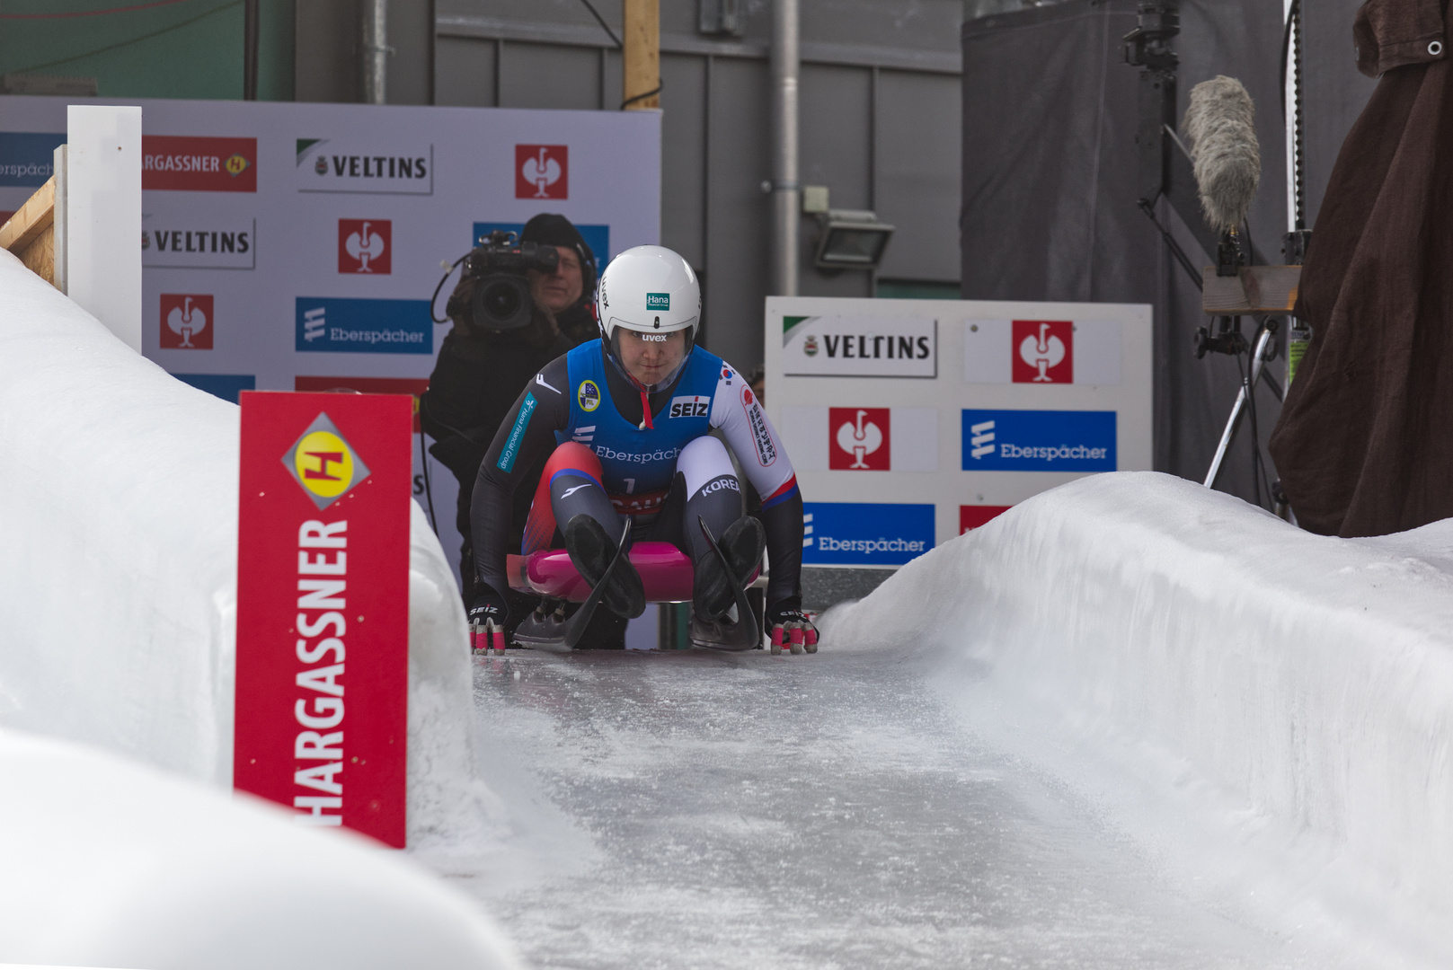
[(1370, 0), (1382, 76), (1347, 135), (1302, 272), (1312, 344), (1271, 434), (1298, 521), (1380, 536), (1453, 515), (1453, 68), (1447, 0)]

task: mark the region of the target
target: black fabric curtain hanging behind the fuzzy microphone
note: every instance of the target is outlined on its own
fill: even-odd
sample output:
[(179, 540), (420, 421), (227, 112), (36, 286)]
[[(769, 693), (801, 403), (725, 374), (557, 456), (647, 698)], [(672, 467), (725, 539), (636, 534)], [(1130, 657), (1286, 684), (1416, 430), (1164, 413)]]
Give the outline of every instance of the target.
[[(1155, 468), (1200, 481), (1241, 378), (1231, 357), (1191, 354), (1191, 337), (1206, 322), (1200, 290), (1135, 203), (1138, 70), (1125, 64), (1120, 46), (1135, 26), (1135, 6), (1067, 0), (963, 25), (962, 292), (965, 299), (1152, 303)], [(1190, 89), (1218, 74), (1239, 78), (1257, 105), (1263, 168), (1251, 237), (1258, 261), (1279, 263), (1286, 229), (1282, 3), (1187, 0), (1174, 46), (1177, 118)], [(1164, 202), (1159, 218), (1193, 261), (1209, 264)], [(1283, 373), (1280, 362), (1271, 367)], [(1279, 405), (1267, 391), (1257, 405), (1264, 441)], [(1254, 500), (1248, 431), (1244, 423), (1219, 486)]]

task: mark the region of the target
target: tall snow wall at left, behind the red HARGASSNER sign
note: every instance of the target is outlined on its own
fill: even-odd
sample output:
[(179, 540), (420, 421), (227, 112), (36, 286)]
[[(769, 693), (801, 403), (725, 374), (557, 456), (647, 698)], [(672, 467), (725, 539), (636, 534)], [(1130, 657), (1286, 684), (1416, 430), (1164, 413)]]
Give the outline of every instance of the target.
[[(0, 725), (231, 787), (238, 414), (0, 251)], [(466, 642), (413, 504), (410, 847), (493, 804)]]

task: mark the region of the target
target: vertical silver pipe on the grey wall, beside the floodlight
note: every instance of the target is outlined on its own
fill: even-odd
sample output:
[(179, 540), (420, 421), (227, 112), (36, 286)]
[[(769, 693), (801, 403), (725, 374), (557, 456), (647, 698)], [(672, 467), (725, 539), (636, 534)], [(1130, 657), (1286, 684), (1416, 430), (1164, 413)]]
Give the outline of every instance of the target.
[(798, 0), (772, 4), (772, 289), (798, 295)]

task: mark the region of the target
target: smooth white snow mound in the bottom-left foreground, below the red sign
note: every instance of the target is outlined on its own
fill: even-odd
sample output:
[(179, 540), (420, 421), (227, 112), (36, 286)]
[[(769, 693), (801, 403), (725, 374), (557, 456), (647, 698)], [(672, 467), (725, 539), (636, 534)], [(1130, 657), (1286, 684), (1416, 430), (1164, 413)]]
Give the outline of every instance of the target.
[(0, 730), (0, 963), (513, 970), (465, 896), (343, 831)]

